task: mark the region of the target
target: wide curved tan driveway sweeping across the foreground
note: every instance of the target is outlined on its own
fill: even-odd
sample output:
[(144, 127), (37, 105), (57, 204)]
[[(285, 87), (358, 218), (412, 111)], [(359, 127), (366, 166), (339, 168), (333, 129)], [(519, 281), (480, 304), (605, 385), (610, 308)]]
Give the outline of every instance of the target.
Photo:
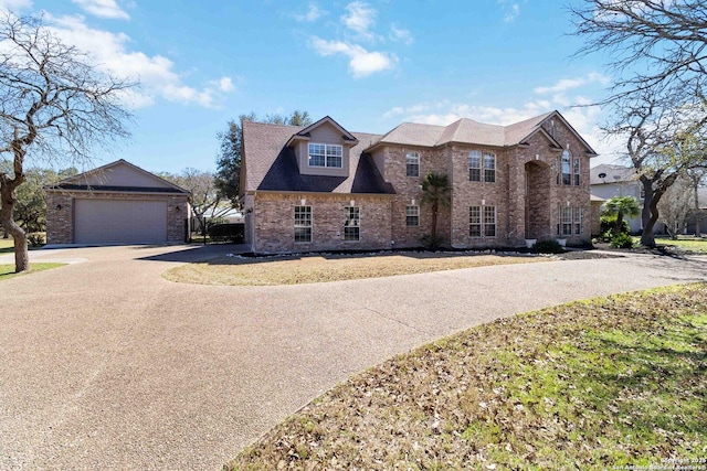
[(217, 470), (349, 375), (570, 300), (707, 279), (632, 256), (296, 287), (160, 278), (219, 247), (42, 250), (0, 282), (0, 469)]

